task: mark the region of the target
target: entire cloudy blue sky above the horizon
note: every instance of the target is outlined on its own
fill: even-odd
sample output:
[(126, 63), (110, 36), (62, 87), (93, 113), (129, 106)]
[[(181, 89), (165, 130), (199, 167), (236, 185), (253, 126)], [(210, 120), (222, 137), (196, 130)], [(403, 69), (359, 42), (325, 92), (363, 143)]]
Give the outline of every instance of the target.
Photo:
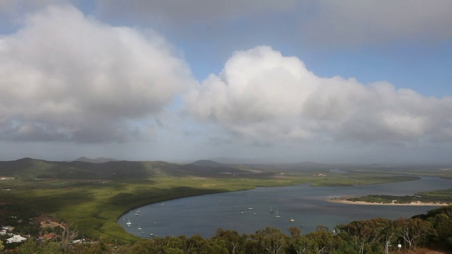
[(0, 0), (0, 159), (452, 164), (451, 12)]

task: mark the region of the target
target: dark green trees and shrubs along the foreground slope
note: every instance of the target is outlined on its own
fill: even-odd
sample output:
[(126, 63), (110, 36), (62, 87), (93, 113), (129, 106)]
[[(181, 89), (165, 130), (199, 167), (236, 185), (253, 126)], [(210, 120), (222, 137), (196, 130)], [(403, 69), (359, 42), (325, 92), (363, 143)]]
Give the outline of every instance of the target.
[[(73, 231), (69, 231), (71, 234)], [(18, 247), (18, 253), (199, 253), (199, 254), (359, 254), (413, 253), (420, 246), (452, 248), (452, 206), (431, 210), (409, 219), (369, 219), (335, 226), (333, 230), (318, 226), (317, 230), (302, 234), (292, 227), (285, 234), (280, 229), (266, 227), (254, 234), (218, 229), (215, 236), (166, 236), (141, 239), (129, 245), (100, 240), (95, 243), (62, 245), (45, 241), (38, 245), (32, 239)], [(400, 244), (401, 248), (397, 246)], [(419, 253), (425, 253), (422, 250)]]

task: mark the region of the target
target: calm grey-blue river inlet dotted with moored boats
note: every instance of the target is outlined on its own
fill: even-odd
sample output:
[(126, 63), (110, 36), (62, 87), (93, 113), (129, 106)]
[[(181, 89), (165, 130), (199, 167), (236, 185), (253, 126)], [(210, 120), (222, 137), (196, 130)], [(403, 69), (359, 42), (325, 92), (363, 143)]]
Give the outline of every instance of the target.
[[(347, 195), (413, 195), (451, 187), (451, 180), (423, 177), (418, 181), (369, 186), (311, 187), (305, 184), (255, 188), (250, 191), (201, 195), (145, 205), (124, 214), (118, 223), (124, 226), (127, 232), (143, 238), (153, 237), (150, 234), (161, 237), (191, 237), (199, 234), (208, 238), (214, 236), (218, 228), (236, 230), (239, 234), (253, 234), (266, 226), (278, 227), (284, 233), (288, 233), (289, 227), (300, 226), (306, 234), (315, 231), (318, 225), (333, 229), (338, 224), (347, 224), (354, 220), (411, 217), (436, 208), (349, 205), (323, 199)], [(273, 213), (270, 213), (270, 210), (273, 210)], [(280, 217), (275, 217), (277, 211)], [(290, 219), (295, 222), (290, 222)], [(131, 226), (127, 226), (126, 222), (131, 222)]]

